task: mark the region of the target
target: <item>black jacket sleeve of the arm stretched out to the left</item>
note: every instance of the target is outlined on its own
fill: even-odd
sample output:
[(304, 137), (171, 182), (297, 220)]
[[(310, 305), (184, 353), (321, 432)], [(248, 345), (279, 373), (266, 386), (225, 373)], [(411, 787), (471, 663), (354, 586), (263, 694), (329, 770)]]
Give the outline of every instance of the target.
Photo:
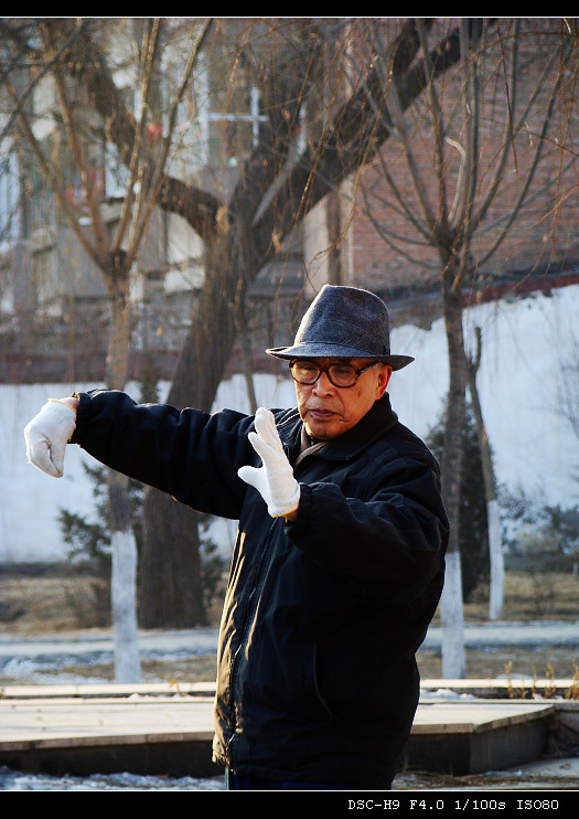
[(78, 444), (100, 462), (202, 512), (239, 517), (253, 418), (224, 410), (213, 415), (163, 404), (137, 404), (126, 393), (78, 394)]

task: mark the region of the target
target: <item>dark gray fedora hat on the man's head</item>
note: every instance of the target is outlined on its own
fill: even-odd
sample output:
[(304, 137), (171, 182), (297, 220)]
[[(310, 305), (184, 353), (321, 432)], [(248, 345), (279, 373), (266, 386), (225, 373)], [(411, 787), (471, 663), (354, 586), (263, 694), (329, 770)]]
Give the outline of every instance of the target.
[(369, 290), (324, 285), (305, 311), (291, 347), (266, 350), (278, 359), (376, 359), (401, 370), (414, 358), (390, 354), (390, 319)]

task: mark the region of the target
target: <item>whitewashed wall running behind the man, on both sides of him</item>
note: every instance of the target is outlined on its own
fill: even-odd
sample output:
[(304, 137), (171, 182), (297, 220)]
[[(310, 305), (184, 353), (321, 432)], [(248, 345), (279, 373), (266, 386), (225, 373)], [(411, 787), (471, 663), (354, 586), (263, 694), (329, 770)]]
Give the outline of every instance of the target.
[[(498, 481), (512, 490), (539, 493), (545, 503), (562, 507), (579, 502), (577, 465), (579, 438), (561, 414), (561, 385), (566, 368), (579, 363), (579, 286), (497, 301), (465, 312), (467, 338), (483, 332), (479, 390)], [(427, 436), (442, 411), (448, 389), (444, 328), (394, 328), (393, 352), (416, 361), (395, 373), (389, 393), (400, 421)], [(293, 405), (291, 380), (256, 375), (258, 402), (267, 406)], [(58, 525), (61, 508), (93, 515), (92, 485), (82, 464), (87, 456), (68, 447), (65, 476), (55, 480), (26, 462), (22, 430), (47, 397), (69, 395), (74, 389), (99, 384), (0, 385), (0, 562), (57, 560), (65, 554)], [(167, 385), (164, 385), (167, 389)], [(138, 396), (139, 387), (127, 392)], [(224, 382), (215, 408), (247, 411), (240, 375)], [(227, 552), (235, 523), (221, 521), (212, 536)]]

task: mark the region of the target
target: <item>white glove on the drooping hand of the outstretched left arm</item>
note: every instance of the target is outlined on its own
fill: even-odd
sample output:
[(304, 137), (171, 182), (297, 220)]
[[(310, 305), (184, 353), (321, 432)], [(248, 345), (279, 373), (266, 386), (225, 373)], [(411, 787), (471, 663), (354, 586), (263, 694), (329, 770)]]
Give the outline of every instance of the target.
[(53, 478), (62, 478), (66, 444), (75, 427), (73, 407), (50, 398), (24, 427), (29, 462)]

